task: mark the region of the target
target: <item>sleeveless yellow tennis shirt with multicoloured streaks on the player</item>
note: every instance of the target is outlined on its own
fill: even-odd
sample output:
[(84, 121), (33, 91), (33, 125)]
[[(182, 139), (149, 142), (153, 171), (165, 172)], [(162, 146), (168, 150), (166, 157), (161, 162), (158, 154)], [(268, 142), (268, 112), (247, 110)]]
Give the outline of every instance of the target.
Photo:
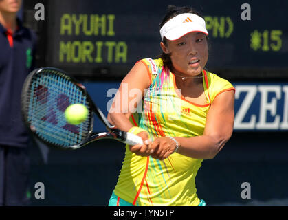
[[(178, 92), (175, 75), (164, 68), (162, 59), (142, 59), (151, 78), (142, 102), (142, 112), (131, 122), (155, 137), (195, 137), (203, 135), (206, 115), (214, 98), (234, 90), (228, 80), (203, 70), (203, 90), (207, 104), (185, 100)], [(115, 186), (115, 195), (135, 206), (198, 206), (195, 177), (202, 159), (173, 153), (160, 161), (126, 153)]]

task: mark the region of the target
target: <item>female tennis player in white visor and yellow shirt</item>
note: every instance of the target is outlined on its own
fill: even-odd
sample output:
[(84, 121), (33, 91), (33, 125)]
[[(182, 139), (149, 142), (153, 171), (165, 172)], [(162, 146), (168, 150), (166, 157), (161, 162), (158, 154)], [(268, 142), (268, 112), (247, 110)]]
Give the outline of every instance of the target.
[[(113, 100), (111, 109), (120, 112), (109, 111), (112, 124), (144, 141), (126, 146), (109, 206), (204, 206), (197, 197), (197, 171), (232, 135), (234, 87), (204, 69), (203, 17), (192, 8), (170, 6), (160, 28), (163, 54), (135, 63)], [(142, 111), (135, 112), (136, 104)]]

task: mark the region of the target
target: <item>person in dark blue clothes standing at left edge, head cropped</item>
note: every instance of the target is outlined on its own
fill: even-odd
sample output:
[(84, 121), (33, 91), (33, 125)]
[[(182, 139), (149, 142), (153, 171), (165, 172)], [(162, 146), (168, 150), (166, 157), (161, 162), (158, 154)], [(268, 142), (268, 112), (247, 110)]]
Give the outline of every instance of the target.
[(21, 89), (34, 69), (36, 34), (16, 14), (21, 0), (0, 0), (0, 206), (27, 206), (29, 137), (21, 116)]

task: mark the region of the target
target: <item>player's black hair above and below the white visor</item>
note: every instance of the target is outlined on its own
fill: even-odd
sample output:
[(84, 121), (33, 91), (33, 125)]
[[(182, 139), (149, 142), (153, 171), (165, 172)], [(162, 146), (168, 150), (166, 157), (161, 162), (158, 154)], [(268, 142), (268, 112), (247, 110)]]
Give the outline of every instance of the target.
[[(189, 6), (177, 7), (175, 5), (169, 5), (166, 10), (166, 14), (164, 18), (162, 19), (162, 22), (159, 24), (159, 28), (161, 29), (164, 26), (164, 24), (170, 19), (172, 19), (173, 17), (176, 17), (177, 15), (184, 14), (184, 13), (197, 14), (199, 17), (204, 19), (203, 15), (199, 14), (199, 12), (197, 12), (194, 8), (191, 8)], [(206, 39), (208, 40), (207, 35), (206, 35)], [(163, 43), (164, 45), (167, 45), (167, 39), (165, 36), (163, 38)], [(164, 67), (168, 67), (168, 69), (172, 69), (172, 61), (171, 61), (170, 55), (171, 54), (165, 54), (164, 52), (162, 52), (162, 54), (159, 55), (159, 58), (162, 58)]]

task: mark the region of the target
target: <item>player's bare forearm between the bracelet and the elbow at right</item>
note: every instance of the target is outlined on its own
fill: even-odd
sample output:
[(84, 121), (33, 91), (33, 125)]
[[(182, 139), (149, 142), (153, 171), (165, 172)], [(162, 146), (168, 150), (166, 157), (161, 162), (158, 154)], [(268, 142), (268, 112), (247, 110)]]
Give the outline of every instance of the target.
[(177, 153), (195, 159), (213, 159), (229, 140), (227, 137), (217, 138), (205, 135), (190, 138), (177, 137), (175, 139), (181, 144)]

